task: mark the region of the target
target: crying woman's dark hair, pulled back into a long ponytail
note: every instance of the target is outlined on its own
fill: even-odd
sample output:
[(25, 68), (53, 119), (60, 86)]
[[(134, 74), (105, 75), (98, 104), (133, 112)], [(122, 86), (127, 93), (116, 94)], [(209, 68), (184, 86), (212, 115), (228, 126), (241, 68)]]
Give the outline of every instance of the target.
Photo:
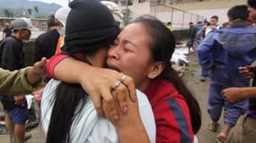
[(144, 15), (137, 18), (133, 23), (141, 23), (151, 37), (151, 53), (154, 61), (163, 62), (165, 64), (163, 72), (157, 79), (172, 82), (179, 93), (186, 99), (190, 109), (190, 118), (194, 133), (197, 133), (201, 126), (201, 111), (199, 103), (191, 94), (190, 90), (185, 86), (184, 82), (178, 76), (177, 72), (172, 69), (170, 59), (175, 48), (175, 38), (172, 32), (167, 29), (161, 21), (158, 21), (150, 15)]

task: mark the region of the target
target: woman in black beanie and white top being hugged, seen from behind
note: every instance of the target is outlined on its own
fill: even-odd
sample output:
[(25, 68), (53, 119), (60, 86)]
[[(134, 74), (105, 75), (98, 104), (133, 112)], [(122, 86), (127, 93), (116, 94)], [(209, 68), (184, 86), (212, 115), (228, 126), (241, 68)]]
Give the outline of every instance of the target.
[[(74, 0), (69, 6), (71, 11), (66, 20), (62, 52), (94, 67), (105, 67), (108, 47), (119, 34), (113, 15), (100, 0)], [(122, 80), (127, 78), (122, 76)], [(123, 86), (120, 82), (113, 90)], [(154, 142), (155, 125), (151, 106), (139, 91), (137, 100), (137, 103), (130, 104), (130, 114), (122, 117), (121, 122), (129, 123), (123, 126), (124, 123), (117, 122), (114, 126), (97, 115), (91, 97), (81, 86), (50, 80), (41, 101), (41, 121), (47, 135), (46, 142)], [(139, 138), (133, 138), (134, 132), (128, 131), (131, 126)]]

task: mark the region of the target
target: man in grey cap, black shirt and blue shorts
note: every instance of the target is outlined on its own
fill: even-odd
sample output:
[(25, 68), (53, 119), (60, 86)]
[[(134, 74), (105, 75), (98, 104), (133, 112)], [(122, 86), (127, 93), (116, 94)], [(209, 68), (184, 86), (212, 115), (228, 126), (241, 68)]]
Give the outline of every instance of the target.
[[(24, 18), (12, 21), (13, 35), (4, 39), (0, 46), (0, 67), (9, 70), (22, 69), (23, 52), (22, 40), (29, 40), (31, 36), (31, 22)], [(25, 140), (24, 125), (29, 117), (24, 96), (2, 96), (5, 123), (9, 130), (11, 142), (23, 143)], [(31, 136), (28, 136), (30, 138)]]

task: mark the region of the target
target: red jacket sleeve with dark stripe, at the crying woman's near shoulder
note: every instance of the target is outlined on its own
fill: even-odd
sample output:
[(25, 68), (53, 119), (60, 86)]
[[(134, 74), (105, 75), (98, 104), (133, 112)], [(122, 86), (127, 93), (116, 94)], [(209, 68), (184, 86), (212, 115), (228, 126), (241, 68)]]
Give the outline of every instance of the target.
[(157, 143), (193, 142), (190, 111), (183, 97), (168, 97), (154, 106)]

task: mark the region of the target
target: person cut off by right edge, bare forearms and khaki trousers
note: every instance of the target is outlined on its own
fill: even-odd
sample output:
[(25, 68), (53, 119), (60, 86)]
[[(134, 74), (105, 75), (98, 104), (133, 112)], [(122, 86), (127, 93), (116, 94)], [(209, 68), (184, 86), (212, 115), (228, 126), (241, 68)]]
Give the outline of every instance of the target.
[[(256, 21), (256, 1), (248, 0), (248, 10), (252, 21)], [(256, 66), (242, 66), (238, 69), (243, 75), (243, 78), (252, 79), (252, 87), (247, 88), (225, 88), (222, 91), (225, 101), (234, 104), (242, 101), (245, 98), (249, 99), (249, 106), (244, 115), (240, 116), (236, 122), (234, 129), (230, 131), (226, 143), (252, 143), (256, 139)], [(254, 77), (252, 76), (254, 75)]]

